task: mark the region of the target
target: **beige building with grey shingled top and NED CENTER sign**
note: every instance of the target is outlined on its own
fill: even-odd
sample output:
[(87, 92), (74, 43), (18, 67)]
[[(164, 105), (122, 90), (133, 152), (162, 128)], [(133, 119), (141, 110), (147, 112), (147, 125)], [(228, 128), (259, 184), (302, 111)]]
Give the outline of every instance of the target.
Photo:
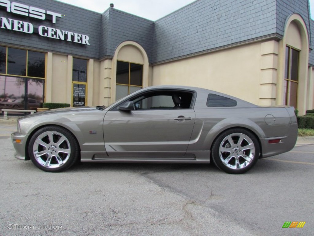
[(115, 8), (0, 0), (0, 18), (2, 101), (108, 105), (175, 84), (300, 114), (314, 108), (307, 0), (198, 0), (157, 21)]

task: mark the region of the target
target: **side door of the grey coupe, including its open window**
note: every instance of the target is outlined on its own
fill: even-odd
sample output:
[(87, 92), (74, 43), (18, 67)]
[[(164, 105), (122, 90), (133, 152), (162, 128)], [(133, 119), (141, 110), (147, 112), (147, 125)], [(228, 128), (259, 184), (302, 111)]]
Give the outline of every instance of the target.
[(103, 126), (108, 156), (184, 156), (195, 122), (192, 95), (183, 106), (173, 91), (149, 93), (133, 98), (135, 110), (108, 111)]

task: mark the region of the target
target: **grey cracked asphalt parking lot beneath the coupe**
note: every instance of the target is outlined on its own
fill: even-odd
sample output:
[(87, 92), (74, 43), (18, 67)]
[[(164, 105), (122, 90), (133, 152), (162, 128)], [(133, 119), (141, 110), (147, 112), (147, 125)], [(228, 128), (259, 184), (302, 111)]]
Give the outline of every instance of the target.
[(0, 122), (0, 235), (313, 235), (314, 138), (242, 175), (94, 163), (46, 173), (14, 158), (15, 130)]

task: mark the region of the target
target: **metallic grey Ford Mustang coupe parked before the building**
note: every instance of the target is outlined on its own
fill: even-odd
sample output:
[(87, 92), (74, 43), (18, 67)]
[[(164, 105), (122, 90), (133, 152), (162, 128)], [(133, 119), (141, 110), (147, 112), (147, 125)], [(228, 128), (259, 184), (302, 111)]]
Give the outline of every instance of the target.
[(231, 174), (290, 151), (289, 106), (260, 107), (211, 90), (154, 86), (108, 107), (54, 109), (18, 119), (15, 157), (43, 171), (81, 162), (209, 163)]

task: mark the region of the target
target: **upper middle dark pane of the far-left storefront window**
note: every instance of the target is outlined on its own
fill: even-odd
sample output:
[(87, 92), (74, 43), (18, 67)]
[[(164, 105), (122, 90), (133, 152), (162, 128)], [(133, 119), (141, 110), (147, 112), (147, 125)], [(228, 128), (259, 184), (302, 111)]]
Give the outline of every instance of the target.
[(26, 76), (26, 50), (8, 48), (8, 74)]

